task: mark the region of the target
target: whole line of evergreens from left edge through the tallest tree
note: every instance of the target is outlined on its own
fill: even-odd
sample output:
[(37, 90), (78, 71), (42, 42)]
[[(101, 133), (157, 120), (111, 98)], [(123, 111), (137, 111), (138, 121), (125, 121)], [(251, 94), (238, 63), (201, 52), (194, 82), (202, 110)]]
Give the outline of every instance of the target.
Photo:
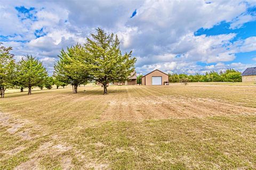
[(33, 87), (51, 89), (54, 84), (57, 89), (71, 84), (76, 94), (77, 87), (89, 81), (101, 83), (106, 95), (108, 83), (123, 82), (130, 77), (136, 58), (132, 57), (132, 52), (121, 53), (119, 39), (113, 33), (107, 35), (102, 29), (97, 29), (97, 35), (91, 36), (92, 39), (87, 38), (84, 45), (61, 50), (52, 77), (36, 57), (27, 55), (15, 62), (10, 53), (12, 47), (6, 48), (0, 43), (1, 98), (4, 98), (7, 88), (19, 87), (21, 92), (28, 88), (28, 95), (31, 95)]

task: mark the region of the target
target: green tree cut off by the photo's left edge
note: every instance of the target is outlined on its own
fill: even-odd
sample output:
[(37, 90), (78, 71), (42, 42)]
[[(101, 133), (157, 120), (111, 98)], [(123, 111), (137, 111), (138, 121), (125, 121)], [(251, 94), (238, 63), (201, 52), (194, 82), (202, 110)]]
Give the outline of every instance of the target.
[[(0, 43), (1, 45), (2, 43)], [(0, 94), (4, 98), (7, 87), (14, 83), (15, 62), (13, 55), (10, 54), (12, 47), (0, 46)]]

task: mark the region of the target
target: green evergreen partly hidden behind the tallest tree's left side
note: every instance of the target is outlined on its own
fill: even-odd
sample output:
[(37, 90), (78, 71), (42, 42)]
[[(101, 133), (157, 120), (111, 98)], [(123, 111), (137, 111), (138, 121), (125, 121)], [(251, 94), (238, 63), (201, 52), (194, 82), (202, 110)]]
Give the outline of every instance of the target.
[(66, 51), (62, 49), (59, 55), (60, 60), (54, 65), (54, 78), (65, 85), (71, 84), (74, 94), (77, 93), (79, 84), (86, 83), (88, 80), (87, 72), (78, 65), (82, 52), (84, 54), (82, 50), (83, 47), (79, 44), (67, 48)]

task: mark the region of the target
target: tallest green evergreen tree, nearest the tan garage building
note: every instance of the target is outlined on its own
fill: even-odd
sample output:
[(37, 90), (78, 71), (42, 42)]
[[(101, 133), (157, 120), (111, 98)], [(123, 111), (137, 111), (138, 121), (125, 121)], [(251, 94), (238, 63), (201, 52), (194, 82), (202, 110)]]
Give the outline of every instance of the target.
[(91, 80), (103, 85), (103, 95), (106, 95), (108, 83), (128, 80), (135, 69), (136, 58), (132, 57), (132, 51), (122, 55), (118, 37), (113, 33), (107, 35), (98, 28), (97, 35), (91, 36), (93, 39), (87, 38), (85, 54), (81, 55), (81, 67), (89, 72)]

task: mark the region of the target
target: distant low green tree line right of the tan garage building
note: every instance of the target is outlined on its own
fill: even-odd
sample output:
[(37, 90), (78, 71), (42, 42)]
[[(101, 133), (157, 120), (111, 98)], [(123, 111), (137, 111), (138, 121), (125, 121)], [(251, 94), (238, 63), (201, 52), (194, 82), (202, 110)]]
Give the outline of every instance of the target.
[(195, 75), (188, 74), (169, 74), (169, 82), (241, 82), (242, 75), (241, 72), (234, 69), (227, 69), (226, 71), (215, 72), (211, 71), (210, 73), (206, 72), (205, 74), (196, 73)]

